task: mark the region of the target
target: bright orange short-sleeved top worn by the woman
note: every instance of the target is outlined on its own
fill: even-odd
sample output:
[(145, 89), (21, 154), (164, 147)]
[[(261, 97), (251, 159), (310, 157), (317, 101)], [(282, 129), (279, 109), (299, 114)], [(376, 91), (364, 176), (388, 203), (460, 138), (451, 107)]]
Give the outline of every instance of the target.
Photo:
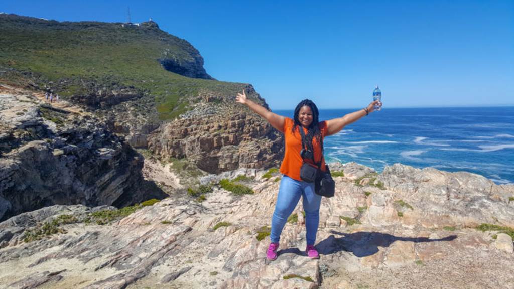
[[(302, 150), (302, 136), (300, 131), (298, 130), (301, 126), (298, 126), (293, 134), (291, 129), (295, 121), (286, 117), (284, 121), (284, 139), (285, 139), (285, 153), (284, 159), (282, 160), (282, 165), (280, 166), (280, 172), (289, 176), (290, 178), (296, 180), (302, 180), (300, 178), (300, 168), (303, 164), (302, 156), (300, 155), (300, 151)], [(321, 137), (324, 138), (326, 135), (326, 121), (322, 121), (319, 123)], [(307, 129), (302, 128), (307, 135)], [(313, 138), (313, 148), (314, 148), (314, 159), (318, 162), (322, 156), (321, 145), (318, 143), (316, 138)], [(326, 171), (325, 167), (325, 159), (321, 160), (321, 170)]]

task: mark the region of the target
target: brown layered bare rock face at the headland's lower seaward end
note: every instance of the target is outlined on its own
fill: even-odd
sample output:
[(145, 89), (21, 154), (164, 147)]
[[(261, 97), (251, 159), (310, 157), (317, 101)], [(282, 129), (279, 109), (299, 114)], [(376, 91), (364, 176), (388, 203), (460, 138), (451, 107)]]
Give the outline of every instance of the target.
[[(246, 90), (266, 106), (251, 85)], [(260, 116), (236, 106), (233, 99), (204, 94), (198, 98), (191, 111), (163, 124), (148, 138), (154, 154), (187, 158), (209, 173), (267, 168), (282, 157), (282, 135)]]

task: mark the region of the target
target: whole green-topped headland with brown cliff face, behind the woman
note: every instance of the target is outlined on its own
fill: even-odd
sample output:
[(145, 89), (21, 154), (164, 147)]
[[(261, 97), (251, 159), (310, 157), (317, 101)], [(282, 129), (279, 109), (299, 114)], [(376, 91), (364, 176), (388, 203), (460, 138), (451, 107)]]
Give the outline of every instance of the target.
[(281, 157), (281, 136), (234, 101), (246, 87), (266, 106), (253, 87), (214, 80), (197, 49), (155, 22), (0, 14), (0, 35), (0, 83), (58, 93), (134, 148), (186, 157), (211, 173)]

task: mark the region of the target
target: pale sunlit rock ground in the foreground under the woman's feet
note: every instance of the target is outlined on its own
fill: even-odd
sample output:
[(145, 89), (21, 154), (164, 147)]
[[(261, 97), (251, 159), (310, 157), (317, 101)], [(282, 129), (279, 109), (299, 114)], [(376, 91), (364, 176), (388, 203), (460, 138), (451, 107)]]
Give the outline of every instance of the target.
[[(53, 206), (0, 223), (0, 284), (9, 288), (511, 288), (514, 186), (471, 173), (396, 164), (377, 174), (333, 164), (317, 248), (305, 256), (301, 203), (265, 260), (280, 175), (224, 173), (201, 203), (167, 198), (134, 208)], [(270, 177), (271, 175), (271, 177)], [(234, 180), (234, 182), (236, 182)], [(111, 212), (111, 213), (107, 213)], [(126, 215), (123, 212), (118, 215)], [(44, 234), (46, 231), (48, 236)], [(493, 285), (492, 285), (493, 284)]]

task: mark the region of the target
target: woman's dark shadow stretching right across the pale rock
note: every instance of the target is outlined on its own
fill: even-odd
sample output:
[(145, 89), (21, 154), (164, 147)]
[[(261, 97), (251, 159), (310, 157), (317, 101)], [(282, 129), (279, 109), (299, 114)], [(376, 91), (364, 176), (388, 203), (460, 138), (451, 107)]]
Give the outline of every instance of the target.
[(332, 230), (332, 235), (316, 245), (321, 255), (330, 255), (340, 251), (352, 252), (357, 257), (366, 257), (378, 252), (378, 247), (389, 247), (395, 241), (414, 243), (452, 241), (457, 236), (452, 235), (441, 239), (396, 237), (391, 234), (379, 232), (341, 233)]

